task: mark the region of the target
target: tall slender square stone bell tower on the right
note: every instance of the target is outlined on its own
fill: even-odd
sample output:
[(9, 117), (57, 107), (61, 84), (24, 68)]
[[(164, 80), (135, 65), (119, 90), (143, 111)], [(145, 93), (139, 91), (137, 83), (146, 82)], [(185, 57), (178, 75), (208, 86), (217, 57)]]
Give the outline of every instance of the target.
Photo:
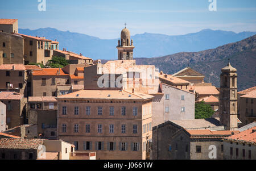
[(226, 130), (237, 130), (237, 69), (230, 63), (221, 69), (220, 124)]

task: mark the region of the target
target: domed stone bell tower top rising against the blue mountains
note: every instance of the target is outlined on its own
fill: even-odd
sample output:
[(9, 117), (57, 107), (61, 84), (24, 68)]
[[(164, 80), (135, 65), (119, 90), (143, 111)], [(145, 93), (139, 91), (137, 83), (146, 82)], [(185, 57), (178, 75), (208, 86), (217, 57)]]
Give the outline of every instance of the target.
[(121, 32), (121, 39), (118, 40), (118, 60), (133, 60), (133, 40), (130, 31), (125, 27)]

